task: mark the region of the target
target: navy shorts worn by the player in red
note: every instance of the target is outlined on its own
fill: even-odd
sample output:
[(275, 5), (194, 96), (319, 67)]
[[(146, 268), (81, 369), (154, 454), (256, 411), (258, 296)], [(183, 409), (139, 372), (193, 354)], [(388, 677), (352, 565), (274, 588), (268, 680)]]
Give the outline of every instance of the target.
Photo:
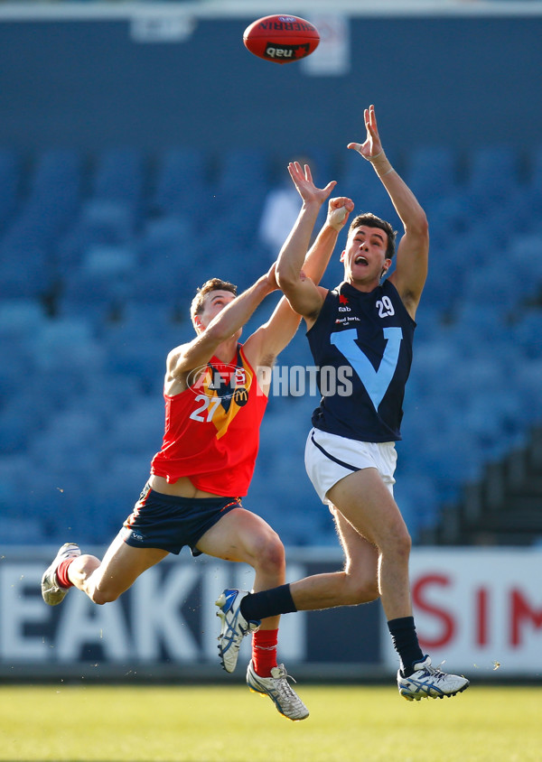
[(160, 548), (181, 553), (188, 545), (192, 555), (203, 534), (234, 508), (242, 508), (239, 497), (177, 497), (164, 495), (148, 484), (126, 518), (122, 538), (133, 548)]

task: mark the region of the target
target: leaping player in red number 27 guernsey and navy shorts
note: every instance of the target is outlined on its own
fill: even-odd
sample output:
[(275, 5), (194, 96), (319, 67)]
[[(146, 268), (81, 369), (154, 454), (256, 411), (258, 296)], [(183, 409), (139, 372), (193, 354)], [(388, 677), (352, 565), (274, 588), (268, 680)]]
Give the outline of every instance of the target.
[[(322, 204), (334, 184), (322, 190), (313, 186), (313, 200)], [(350, 199), (329, 202), (326, 224), (304, 265), (316, 282), (352, 209)], [(290, 239), (304, 236), (305, 218), (304, 205)], [(115, 600), (146, 569), (167, 553), (180, 553), (184, 545), (193, 555), (207, 553), (250, 564), (255, 591), (285, 584), (280, 538), (240, 499), (247, 494), (257, 457), (269, 368), (300, 321), (283, 298), (269, 321), (243, 345), (238, 343), (242, 326), (276, 288), (275, 265), (239, 296), (234, 285), (219, 279), (201, 288), (191, 309), (197, 336), (167, 357), (163, 447), (154, 456), (134, 511), (102, 561), (81, 555), (77, 544), (62, 545), (42, 577), (46, 603), (61, 603), (71, 586), (98, 604)], [(233, 672), (242, 635), (230, 627), (230, 613), (229, 601), (221, 601), (222, 630), (232, 638), (221, 638), (220, 657), (226, 671)], [(243, 634), (255, 633), (248, 685), (268, 695), (289, 719), (304, 720), (309, 712), (287, 682), (284, 665), (276, 664), (278, 621), (276, 616), (264, 619), (261, 627), (259, 621), (247, 623)]]

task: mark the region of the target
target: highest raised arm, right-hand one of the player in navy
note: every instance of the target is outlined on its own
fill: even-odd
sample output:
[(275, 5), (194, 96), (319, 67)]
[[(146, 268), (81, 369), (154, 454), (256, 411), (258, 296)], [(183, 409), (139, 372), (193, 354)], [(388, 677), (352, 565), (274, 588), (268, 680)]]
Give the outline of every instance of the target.
[(384, 153), (378, 135), (374, 106), (365, 109), (364, 118), (367, 129), (365, 143), (350, 143), (348, 147), (360, 153), (373, 165), (405, 228), (405, 235), (397, 247), (397, 265), (389, 280), (394, 283), (406, 309), (414, 317), (427, 277), (429, 254), (427, 218), (416, 196), (406, 182), (399, 177)]

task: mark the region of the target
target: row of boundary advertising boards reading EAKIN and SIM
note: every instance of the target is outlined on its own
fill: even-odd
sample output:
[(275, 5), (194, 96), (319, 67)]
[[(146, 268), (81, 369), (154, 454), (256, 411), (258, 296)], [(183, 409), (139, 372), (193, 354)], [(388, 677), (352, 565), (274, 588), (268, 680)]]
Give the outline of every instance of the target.
[[(243, 679), (244, 669), (220, 669), (214, 601), (225, 587), (250, 588), (247, 566), (183, 551), (115, 602), (96, 606), (71, 590), (49, 607), (40, 580), (54, 553), (0, 549), (0, 680)], [(342, 565), (329, 547), (289, 549), (287, 559), (288, 581)], [(435, 664), (445, 660), (479, 682), (540, 680), (541, 549), (416, 548), (411, 579), (418, 637)], [(248, 647), (247, 640), (241, 664)], [(319, 682), (375, 681), (397, 670), (379, 602), (286, 615), (280, 659), (295, 676)]]

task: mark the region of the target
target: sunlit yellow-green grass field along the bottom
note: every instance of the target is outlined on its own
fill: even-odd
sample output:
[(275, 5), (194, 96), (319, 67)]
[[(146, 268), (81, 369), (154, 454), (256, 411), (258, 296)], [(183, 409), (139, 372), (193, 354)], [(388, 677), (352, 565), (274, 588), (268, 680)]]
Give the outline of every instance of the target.
[(416, 703), (393, 685), (298, 689), (311, 711), (302, 722), (242, 685), (4, 686), (0, 760), (542, 759), (542, 687), (471, 687)]

